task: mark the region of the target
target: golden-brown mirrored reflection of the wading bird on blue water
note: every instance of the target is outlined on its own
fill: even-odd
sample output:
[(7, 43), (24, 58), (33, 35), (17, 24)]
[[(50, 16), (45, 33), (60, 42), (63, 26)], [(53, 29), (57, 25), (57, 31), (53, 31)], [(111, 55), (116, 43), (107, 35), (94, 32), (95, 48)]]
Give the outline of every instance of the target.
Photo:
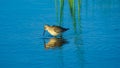
[(64, 44), (68, 43), (68, 41), (66, 41), (63, 38), (50, 38), (48, 43), (45, 42), (44, 40), (44, 46), (45, 49), (50, 49), (50, 48), (56, 48), (56, 47), (61, 47)]

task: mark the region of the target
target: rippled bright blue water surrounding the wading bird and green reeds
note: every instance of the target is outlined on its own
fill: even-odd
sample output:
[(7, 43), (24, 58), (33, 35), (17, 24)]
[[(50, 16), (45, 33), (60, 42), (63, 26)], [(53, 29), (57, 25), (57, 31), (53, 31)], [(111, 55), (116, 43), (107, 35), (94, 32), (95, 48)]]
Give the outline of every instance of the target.
[(52, 37), (42, 36), (43, 26), (57, 24), (54, 0), (0, 1), (0, 68), (120, 68), (120, 1), (82, 0), (80, 34), (65, 2), (67, 43), (46, 49)]

